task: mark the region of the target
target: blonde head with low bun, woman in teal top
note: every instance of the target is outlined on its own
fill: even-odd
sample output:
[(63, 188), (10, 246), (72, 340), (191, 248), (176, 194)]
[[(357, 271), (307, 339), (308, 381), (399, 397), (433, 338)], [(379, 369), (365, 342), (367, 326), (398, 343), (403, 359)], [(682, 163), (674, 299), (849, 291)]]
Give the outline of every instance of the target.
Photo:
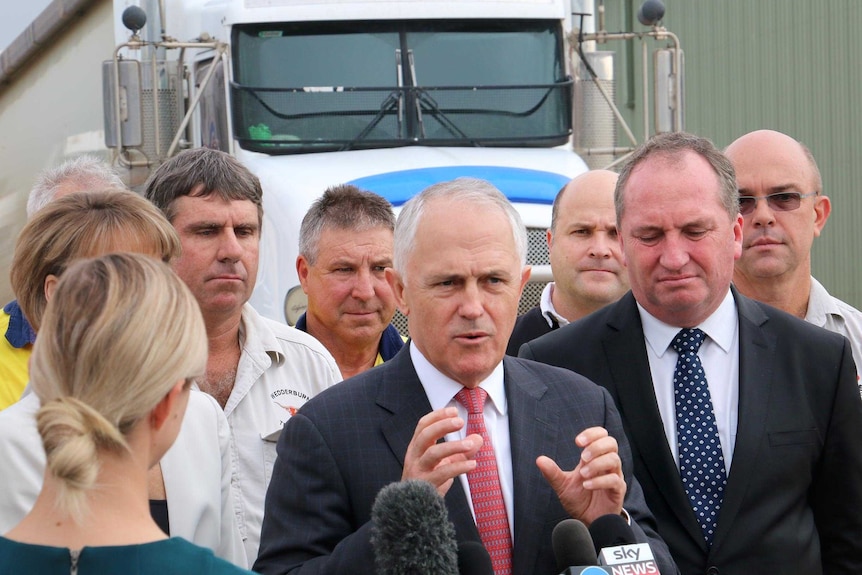
[(203, 374), (206, 360), (198, 304), (167, 264), (117, 253), (63, 273), (30, 361), (62, 510), (82, 517), (100, 455), (127, 451), (126, 435), (178, 381)]

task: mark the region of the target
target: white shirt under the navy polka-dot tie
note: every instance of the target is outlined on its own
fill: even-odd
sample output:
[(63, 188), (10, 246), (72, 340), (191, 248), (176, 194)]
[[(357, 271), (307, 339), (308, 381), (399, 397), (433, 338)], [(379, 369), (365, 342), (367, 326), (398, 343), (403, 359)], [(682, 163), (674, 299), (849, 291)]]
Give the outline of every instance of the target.
[[(638, 312), (643, 324), (658, 410), (664, 424), (667, 443), (679, 467), (673, 394), (673, 375), (678, 354), (670, 344), (680, 328), (656, 319), (640, 304)], [(698, 355), (703, 363), (712, 398), (712, 409), (724, 454), (725, 472), (730, 474), (739, 412), (739, 315), (730, 290), (712, 315), (699, 325), (691, 327), (698, 327), (707, 335)]]

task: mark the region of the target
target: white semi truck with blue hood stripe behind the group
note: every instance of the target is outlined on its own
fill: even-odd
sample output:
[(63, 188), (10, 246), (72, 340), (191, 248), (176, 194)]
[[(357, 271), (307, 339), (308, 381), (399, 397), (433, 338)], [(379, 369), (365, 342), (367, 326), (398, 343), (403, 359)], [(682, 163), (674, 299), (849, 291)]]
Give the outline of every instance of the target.
[(534, 283), (523, 305), (534, 305), (550, 278), (552, 201), (588, 169), (577, 152), (606, 164), (631, 149), (616, 144), (612, 54), (595, 51), (597, 41), (668, 42), (655, 55), (655, 129), (682, 125), (681, 52), (656, 24), (661, 15), (649, 17), (657, 0), (642, 8), (643, 33), (622, 35), (582, 16), (601, 12), (591, 1), (132, 4), (114, 0), (106, 145), (132, 185), (188, 147), (221, 149), (248, 166), (265, 212), (252, 303), (289, 323), (304, 305), (300, 222), (339, 183), (377, 192), (397, 210), (436, 182), (489, 180), (530, 231)]

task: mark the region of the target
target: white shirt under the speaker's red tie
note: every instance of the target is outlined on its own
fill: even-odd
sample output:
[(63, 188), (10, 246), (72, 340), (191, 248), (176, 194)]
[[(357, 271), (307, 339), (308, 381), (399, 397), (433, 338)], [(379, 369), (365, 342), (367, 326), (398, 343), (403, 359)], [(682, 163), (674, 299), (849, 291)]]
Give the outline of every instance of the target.
[[(419, 376), (419, 381), (425, 389), (425, 395), (428, 397), (431, 409), (436, 410), (442, 407), (454, 406), (458, 408), (458, 415), (465, 422), (464, 427), (459, 431), (448, 434), (446, 441), (464, 439), (467, 436), (467, 408), (454, 399), (455, 395), (464, 386), (431, 365), (431, 362), (422, 355), (422, 352), (419, 351), (413, 342), (410, 342), (409, 345), (410, 359), (413, 360), (413, 367), (416, 369), (416, 375)], [(500, 488), (503, 490), (506, 515), (509, 517), (509, 533), (514, 537), (515, 515), (513, 504), (512, 449), (509, 438), (509, 410), (508, 403), (506, 402), (506, 389), (503, 385), (502, 361), (494, 368), (491, 375), (479, 384), (479, 387), (484, 389), (488, 394), (483, 411), (485, 429), (488, 431), (488, 435), (491, 436), (491, 443), (494, 445), (494, 456), (497, 459), (497, 473), (500, 476)], [(470, 484), (467, 481), (467, 474), (459, 475), (458, 479), (461, 481), (461, 487), (464, 488), (464, 493), (467, 495), (470, 512), (473, 513), (473, 519), (475, 520), (476, 514), (473, 511), (473, 499), (470, 496)]]

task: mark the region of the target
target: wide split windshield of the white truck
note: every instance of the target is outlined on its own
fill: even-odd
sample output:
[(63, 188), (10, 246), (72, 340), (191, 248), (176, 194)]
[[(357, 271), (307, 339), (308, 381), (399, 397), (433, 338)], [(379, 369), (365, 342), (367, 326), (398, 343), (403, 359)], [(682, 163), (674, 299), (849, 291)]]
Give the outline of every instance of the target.
[(571, 134), (557, 21), (238, 25), (234, 134), (302, 153), (405, 145), (556, 146)]

